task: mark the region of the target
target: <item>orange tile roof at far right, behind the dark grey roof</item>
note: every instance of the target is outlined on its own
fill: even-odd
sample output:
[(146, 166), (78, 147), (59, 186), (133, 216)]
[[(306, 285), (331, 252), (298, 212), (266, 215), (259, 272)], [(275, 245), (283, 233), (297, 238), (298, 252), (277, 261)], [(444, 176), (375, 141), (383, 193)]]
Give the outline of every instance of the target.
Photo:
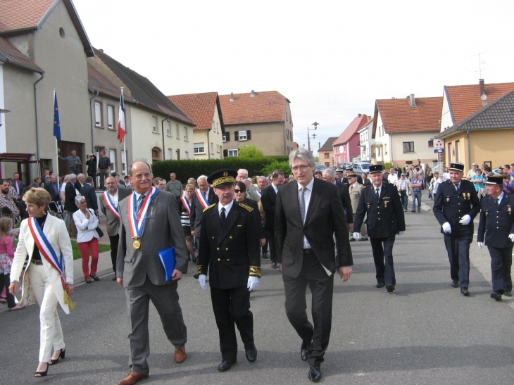
[[(484, 84), (487, 103), (495, 101), (500, 96), (508, 94), (514, 90), (514, 83)], [(444, 86), (446, 96), (448, 96), (454, 124), (482, 108), (480, 99), (480, 89), (478, 84), (468, 84), (465, 86)]]

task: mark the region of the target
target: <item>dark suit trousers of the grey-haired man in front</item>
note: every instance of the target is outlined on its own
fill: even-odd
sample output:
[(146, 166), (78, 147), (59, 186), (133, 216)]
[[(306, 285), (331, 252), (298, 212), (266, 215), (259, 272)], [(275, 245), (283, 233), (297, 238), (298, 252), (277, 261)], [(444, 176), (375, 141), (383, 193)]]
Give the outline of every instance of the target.
[[(291, 278), (282, 274), (285, 289), (286, 315), (301, 340), (310, 343), (308, 362), (318, 366), (323, 362), (327, 351), (332, 328), (332, 294), (334, 293), (334, 274), (330, 277), (322, 267), (318, 257), (312, 252), (303, 254), (303, 265), (298, 277)], [(306, 309), (307, 284), (311, 288), (311, 310), (313, 324), (309, 322)]]

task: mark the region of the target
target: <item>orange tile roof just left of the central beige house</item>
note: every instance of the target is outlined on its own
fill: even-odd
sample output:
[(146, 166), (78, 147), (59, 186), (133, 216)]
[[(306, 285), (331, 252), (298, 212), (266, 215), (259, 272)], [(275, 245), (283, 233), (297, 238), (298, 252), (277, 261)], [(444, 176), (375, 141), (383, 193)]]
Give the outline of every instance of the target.
[(194, 130), (211, 130), (218, 92), (171, 95), (168, 99), (194, 122)]

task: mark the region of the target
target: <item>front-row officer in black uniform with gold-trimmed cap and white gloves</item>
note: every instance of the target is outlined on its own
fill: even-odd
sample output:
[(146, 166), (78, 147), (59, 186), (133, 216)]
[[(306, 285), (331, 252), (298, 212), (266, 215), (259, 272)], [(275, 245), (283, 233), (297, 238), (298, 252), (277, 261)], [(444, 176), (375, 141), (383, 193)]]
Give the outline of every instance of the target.
[(220, 335), (220, 372), (237, 360), (234, 323), (244, 343), (246, 359), (254, 362), (253, 315), (250, 291), (261, 277), (261, 243), (253, 208), (234, 202), (236, 170), (219, 170), (207, 177), (219, 202), (203, 210), (198, 254), (199, 284), (206, 287), (209, 272), (211, 301)]

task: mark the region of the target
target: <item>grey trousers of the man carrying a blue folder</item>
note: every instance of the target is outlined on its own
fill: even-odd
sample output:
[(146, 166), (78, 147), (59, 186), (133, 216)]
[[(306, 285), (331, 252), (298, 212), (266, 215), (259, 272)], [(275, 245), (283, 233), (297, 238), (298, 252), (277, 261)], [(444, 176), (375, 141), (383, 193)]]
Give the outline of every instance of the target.
[(130, 321), (130, 358), (132, 372), (149, 374), (150, 339), (148, 332), (148, 311), (150, 300), (156, 307), (168, 340), (180, 349), (187, 341), (187, 328), (178, 303), (177, 282), (154, 285), (148, 277), (143, 286), (126, 288), (127, 308)]

